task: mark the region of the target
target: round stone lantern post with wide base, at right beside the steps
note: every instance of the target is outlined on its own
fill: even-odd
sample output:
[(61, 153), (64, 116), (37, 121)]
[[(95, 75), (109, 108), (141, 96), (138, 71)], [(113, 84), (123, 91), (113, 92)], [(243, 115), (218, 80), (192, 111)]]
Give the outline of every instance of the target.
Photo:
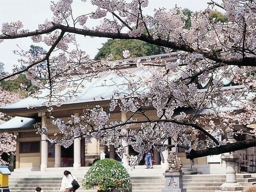
[(242, 192), (244, 187), (236, 182), (236, 160), (240, 156), (236, 154), (224, 154), (222, 160), (226, 161), (226, 182), (220, 186), (217, 192)]

